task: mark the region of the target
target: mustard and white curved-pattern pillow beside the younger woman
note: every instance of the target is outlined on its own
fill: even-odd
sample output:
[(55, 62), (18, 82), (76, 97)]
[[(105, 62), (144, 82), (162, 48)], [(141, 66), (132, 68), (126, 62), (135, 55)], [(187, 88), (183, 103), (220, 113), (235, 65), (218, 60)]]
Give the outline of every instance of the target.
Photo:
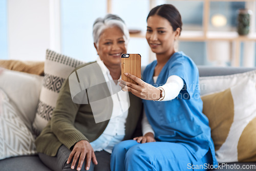
[(202, 96), (219, 163), (256, 161), (256, 81)]

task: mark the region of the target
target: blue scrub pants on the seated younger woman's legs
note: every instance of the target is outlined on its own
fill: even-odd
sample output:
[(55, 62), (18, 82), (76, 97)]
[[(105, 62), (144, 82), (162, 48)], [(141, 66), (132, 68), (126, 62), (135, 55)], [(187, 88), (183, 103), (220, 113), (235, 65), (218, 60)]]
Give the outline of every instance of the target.
[(173, 142), (141, 144), (127, 140), (115, 145), (111, 154), (112, 171), (208, 170), (208, 163), (212, 164), (210, 151), (200, 161), (196, 161), (184, 145)]

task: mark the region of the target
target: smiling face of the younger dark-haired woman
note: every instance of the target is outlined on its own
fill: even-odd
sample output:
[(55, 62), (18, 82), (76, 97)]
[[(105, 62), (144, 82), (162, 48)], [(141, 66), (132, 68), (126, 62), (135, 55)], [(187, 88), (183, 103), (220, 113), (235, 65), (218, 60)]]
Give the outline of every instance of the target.
[(146, 40), (151, 50), (158, 54), (172, 55), (174, 41), (179, 37), (180, 28), (173, 31), (169, 21), (159, 15), (152, 15), (147, 19)]

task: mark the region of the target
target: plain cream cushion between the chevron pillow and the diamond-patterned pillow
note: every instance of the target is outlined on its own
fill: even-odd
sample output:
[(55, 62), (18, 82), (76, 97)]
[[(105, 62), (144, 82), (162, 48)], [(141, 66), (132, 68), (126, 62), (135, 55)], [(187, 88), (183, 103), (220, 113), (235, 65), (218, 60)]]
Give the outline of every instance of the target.
[(17, 106), (19, 117), (31, 129), (44, 76), (3, 69), (0, 74), (0, 88)]

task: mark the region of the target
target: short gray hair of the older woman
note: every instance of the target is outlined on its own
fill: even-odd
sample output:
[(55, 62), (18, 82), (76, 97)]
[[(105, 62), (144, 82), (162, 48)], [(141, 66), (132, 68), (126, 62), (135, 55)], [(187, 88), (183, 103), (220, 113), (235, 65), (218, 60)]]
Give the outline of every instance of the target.
[(97, 46), (101, 33), (106, 28), (113, 26), (117, 26), (122, 30), (125, 37), (125, 43), (127, 44), (128, 40), (130, 39), (130, 34), (124, 21), (117, 15), (107, 14), (104, 18), (97, 18), (93, 24), (93, 40)]

